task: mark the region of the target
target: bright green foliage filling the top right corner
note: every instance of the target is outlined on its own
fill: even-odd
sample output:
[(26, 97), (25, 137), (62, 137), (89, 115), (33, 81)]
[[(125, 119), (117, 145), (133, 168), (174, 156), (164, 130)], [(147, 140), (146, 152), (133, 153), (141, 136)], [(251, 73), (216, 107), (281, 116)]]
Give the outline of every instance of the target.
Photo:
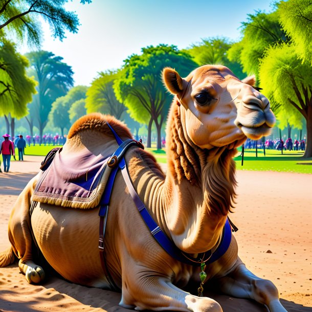
[(278, 13), (283, 30), (292, 38), (298, 56), (312, 63), (312, 1), (282, 1)]

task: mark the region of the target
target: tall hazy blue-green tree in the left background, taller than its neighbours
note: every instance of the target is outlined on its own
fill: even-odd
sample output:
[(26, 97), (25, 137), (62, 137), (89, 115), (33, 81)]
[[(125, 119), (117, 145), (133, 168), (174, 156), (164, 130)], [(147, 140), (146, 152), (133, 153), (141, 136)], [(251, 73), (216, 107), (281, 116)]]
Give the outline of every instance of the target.
[(73, 71), (71, 66), (62, 62), (62, 57), (52, 52), (38, 51), (27, 54), (35, 79), (38, 81), (34, 96), (35, 116), (38, 122), (40, 140), (44, 127), (47, 125), (52, 103), (65, 95), (73, 86)]

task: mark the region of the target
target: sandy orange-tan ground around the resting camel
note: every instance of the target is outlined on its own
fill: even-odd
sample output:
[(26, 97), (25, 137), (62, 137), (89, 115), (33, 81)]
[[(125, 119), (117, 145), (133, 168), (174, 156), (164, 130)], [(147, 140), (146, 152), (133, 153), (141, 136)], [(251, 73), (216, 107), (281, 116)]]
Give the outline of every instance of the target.
[[(26, 155), (24, 162), (11, 163), (11, 172), (0, 173), (0, 251), (9, 246), (11, 207), (42, 159)], [(311, 312), (312, 175), (237, 171), (237, 180), (237, 208), (231, 219), (239, 228), (235, 237), (241, 259), (256, 275), (275, 283), (288, 311)], [(250, 300), (206, 295), (224, 311), (266, 311)], [(42, 285), (30, 285), (17, 263), (0, 268), (0, 311), (126, 311), (119, 300), (119, 293), (72, 284), (56, 275)]]

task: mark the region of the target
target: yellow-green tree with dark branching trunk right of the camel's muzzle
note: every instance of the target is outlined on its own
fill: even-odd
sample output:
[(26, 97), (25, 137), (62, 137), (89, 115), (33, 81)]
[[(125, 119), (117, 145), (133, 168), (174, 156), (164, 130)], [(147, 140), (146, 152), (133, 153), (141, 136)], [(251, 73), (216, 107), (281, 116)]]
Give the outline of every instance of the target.
[[(274, 73), (274, 75), (272, 75)], [(302, 62), (293, 44), (281, 44), (267, 50), (261, 61), (260, 80), (263, 92), (280, 106), (279, 119), (287, 118), (290, 125), (300, 128), (302, 116), (307, 127), (312, 123), (312, 66)], [(307, 133), (307, 157), (312, 133)]]

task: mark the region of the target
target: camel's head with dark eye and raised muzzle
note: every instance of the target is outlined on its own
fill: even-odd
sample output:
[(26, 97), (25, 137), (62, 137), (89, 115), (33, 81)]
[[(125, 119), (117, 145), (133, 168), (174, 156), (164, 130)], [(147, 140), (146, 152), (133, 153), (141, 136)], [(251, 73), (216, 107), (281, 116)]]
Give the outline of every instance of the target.
[(181, 121), (190, 140), (200, 148), (236, 148), (247, 137), (270, 134), (275, 116), (269, 100), (252, 85), (221, 65), (204, 65), (186, 78), (165, 68), (163, 79), (181, 105)]

